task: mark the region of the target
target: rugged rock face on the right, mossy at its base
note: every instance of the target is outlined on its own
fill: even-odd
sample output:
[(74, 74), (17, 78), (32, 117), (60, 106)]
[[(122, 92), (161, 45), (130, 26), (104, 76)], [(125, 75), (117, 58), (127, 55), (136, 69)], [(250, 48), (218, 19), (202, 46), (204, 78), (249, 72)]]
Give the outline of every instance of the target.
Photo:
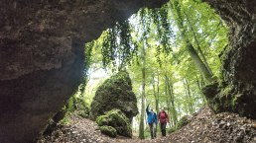
[(213, 84), (204, 90), (208, 103), (216, 111), (234, 111), (255, 119), (256, 1), (204, 1), (230, 28), (230, 44), (221, 54), (223, 79), (218, 86)]

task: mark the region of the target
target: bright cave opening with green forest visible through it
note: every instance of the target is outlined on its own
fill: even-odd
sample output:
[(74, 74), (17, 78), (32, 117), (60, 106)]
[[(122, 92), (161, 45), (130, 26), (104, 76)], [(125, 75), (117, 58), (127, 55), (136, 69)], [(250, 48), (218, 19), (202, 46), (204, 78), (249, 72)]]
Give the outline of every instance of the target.
[[(87, 75), (65, 109), (91, 117), (97, 88), (127, 71), (140, 111), (133, 117), (134, 135), (150, 137), (145, 125), (147, 105), (157, 114), (166, 110), (171, 116), (168, 130), (174, 130), (184, 115), (206, 104), (201, 90), (221, 76), (219, 53), (228, 44), (228, 31), (206, 3), (173, 1), (161, 9), (141, 9), (86, 43)], [(105, 96), (102, 100), (108, 99)]]

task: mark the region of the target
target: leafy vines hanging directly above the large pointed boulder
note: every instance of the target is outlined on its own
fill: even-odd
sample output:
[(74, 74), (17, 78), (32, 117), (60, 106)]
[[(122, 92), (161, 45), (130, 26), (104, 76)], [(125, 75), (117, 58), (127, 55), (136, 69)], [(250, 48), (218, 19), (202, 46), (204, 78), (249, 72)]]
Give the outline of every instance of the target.
[(128, 21), (117, 23), (103, 38), (101, 47), (103, 66), (112, 64), (122, 70), (136, 53), (138, 47), (132, 41), (131, 26)]

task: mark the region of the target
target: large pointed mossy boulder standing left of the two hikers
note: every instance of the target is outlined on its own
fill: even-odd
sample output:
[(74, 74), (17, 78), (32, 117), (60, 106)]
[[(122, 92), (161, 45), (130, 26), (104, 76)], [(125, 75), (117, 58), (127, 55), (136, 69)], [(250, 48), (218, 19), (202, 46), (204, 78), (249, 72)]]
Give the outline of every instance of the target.
[(113, 108), (123, 111), (130, 121), (138, 113), (131, 79), (125, 71), (110, 77), (97, 89), (91, 103), (91, 117), (95, 119)]

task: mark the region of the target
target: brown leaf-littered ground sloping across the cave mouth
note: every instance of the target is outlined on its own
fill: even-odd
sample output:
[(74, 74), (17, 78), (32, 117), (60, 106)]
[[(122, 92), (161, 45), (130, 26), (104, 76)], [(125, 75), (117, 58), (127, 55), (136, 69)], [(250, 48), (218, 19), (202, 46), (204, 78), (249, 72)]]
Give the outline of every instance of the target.
[(89, 119), (72, 116), (70, 120), (72, 125), (60, 125), (38, 143), (256, 143), (256, 120), (229, 112), (214, 114), (209, 107), (194, 113), (192, 121), (180, 130), (153, 140), (110, 138)]

